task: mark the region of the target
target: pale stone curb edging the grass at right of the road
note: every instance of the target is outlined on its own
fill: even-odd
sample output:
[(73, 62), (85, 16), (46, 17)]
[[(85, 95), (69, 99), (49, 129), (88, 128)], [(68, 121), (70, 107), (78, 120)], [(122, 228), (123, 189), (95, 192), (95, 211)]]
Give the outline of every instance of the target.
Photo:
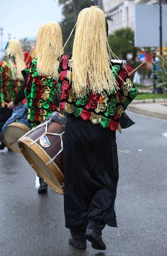
[(146, 108), (138, 108), (138, 104), (144, 104), (144, 103), (165, 103), (167, 105), (167, 99), (142, 99), (142, 100), (134, 100), (127, 108), (128, 111), (131, 111), (133, 113), (141, 114), (144, 116), (150, 116), (155, 117), (159, 119), (167, 119), (167, 112), (160, 112), (160, 111), (151, 111)]

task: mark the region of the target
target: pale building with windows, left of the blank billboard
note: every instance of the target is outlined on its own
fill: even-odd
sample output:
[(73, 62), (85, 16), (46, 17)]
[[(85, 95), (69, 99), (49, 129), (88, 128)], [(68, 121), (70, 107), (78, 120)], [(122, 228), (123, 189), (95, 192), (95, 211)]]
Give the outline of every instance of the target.
[(134, 0), (104, 0), (103, 5), (108, 17), (109, 33), (126, 27), (134, 29)]

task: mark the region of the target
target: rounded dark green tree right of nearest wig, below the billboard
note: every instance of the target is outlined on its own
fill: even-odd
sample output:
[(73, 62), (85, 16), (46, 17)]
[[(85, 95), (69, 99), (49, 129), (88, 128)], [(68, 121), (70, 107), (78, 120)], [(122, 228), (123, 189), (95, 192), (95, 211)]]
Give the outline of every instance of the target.
[(135, 61), (138, 48), (134, 44), (134, 31), (131, 28), (118, 29), (109, 35), (109, 45), (120, 59), (127, 59), (127, 53), (132, 53)]

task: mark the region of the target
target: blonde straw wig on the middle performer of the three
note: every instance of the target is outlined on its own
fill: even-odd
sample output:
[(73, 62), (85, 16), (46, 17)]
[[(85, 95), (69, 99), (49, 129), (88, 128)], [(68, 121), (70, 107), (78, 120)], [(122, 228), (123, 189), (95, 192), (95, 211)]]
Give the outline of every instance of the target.
[(53, 78), (58, 77), (58, 57), (63, 49), (63, 38), (57, 22), (48, 22), (40, 26), (37, 35), (35, 58), (37, 72)]

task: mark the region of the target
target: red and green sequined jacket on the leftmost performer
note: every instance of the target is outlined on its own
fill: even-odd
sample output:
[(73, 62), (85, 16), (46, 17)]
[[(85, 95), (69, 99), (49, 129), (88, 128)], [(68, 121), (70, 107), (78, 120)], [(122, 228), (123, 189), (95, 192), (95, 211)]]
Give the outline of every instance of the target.
[[(15, 65), (15, 64), (13, 64)], [(5, 107), (4, 102), (14, 100), (23, 81), (12, 79), (12, 71), (7, 61), (0, 62), (0, 106)]]

